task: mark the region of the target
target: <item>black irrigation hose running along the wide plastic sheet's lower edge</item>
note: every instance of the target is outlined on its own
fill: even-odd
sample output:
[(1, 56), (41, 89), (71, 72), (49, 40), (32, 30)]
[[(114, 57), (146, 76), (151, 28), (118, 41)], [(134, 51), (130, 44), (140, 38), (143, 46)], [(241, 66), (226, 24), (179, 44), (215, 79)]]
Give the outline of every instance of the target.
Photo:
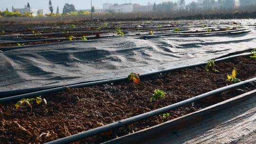
[[(230, 58), (235, 58), (235, 57), (238, 57), (238, 56), (245, 56), (245, 55), (250, 55), (250, 54), (251, 53), (231, 55), (231, 56), (216, 59), (215, 62), (224, 61), (224, 60), (228, 60)], [(170, 72), (170, 71), (179, 70), (179, 69), (192, 68), (192, 67), (201, 66), (201, 65), (205, 65), (205, 64), (206, 64), (206, 62), (202, 62), (202, 63), (195, 63), (195, 64), (190, 64), (190, 65), (174, 67), (174, 68), (165, 69), (165, 70), (156, 71), (156, 72), (148, 72), (148, 73), (145, 73), (145, 74), (141, 74), (140, 77), (145, 77), (145, 76), (149, 76), (149, 75)], [(118, 82), (118, 81), (125, 81), (126, 79), (127, 79), (127, 77), (110, 79), (110, 80), (92, 81), (92, 82), (85, 82), (85, 83), (67, 85), (67, 86), (62, 86), (62, 87), (57, 87), (57, 88), (51, 88), (51, 89), (47, 89), (47, 90), (40, 90), (40, 91), (21, 94), (21, 95), (17, 95), (17, 96), (9, 96), (9, 97), (6, 96), (5, 98), (0, 99), (0, 103), (9, 102), (9, 101), (17, 100), (17, 99), (25, 99), (25, 98), (29, 98), (29, 97), (33, 97), (33, 96), (40, 96), (40, 95), (54, 93), (54, 92), (59, 92), (59, 91), (66, 90), (67, 88), (71, 88), (71, 89), (73, 89), (73, 88), (83, 88), (83, 87), (88, 87), (88, 86), (93, 86), (93, 85), (113, 83), (113, 82)]]

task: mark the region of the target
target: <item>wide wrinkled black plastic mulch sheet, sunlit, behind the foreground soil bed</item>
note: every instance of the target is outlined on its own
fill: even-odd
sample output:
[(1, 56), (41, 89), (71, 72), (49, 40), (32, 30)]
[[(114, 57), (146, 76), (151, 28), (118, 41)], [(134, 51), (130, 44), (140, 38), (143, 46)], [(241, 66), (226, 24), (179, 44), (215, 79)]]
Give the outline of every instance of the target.
[(199, 63), (255, 47), (256, 32), (124, 36), (0, 49), (0, 97)]

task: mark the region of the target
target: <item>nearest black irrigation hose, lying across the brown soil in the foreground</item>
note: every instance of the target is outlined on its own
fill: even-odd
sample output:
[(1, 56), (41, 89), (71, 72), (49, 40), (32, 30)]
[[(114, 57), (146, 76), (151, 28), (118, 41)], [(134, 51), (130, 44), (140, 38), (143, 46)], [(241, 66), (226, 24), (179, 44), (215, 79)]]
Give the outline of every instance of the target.
[(153, 111), (146, 112), (144, 114), (140, 114), (140, 115), (137, 115), (135, 117), (129, 117), (127, 119), (123, 119), (123, 120), (120, 120), (120, 121), (117, 121), (117, 122), (114, 122), (114, 123), (111, 123), (111, 124), (108, 124), (108, 125), (105, 125), (105, 126), (97, 127), (97, 128), (94, 128), (94, 129), (91, 129), (91, 130), (88, 130), (88, 131), (85, 131), (85, 132), (82, 132), (82, 133), (78, 133), (78, 134), (75, 134), (75, 135), (60, 138), (60, 139), (57, 139), (55, 141), (48, 142), (46, 144), (68, 144), (68, 143), (71, 143), (71, 142), (75, 142), (75, 141), (78, 141), (78, 140), (81, 140), (81, 139), (84, 139), (84, 138), (87, 138), (87, 137), (90, 137), (90, 136), (93, 136), (93, 135), (101, 134), (103, 132), (106, 132), (106, 131), (109, 131), (109, 130), (112, 130), (112, 129), (115, 129), (115, 128), (119, 128), (121, 126), (125, 126), (125, 125), (128, 125), (128, 124), (146, 119), (148, 117), (152, 117), (152, 116), (155, 116), (155, 115), (158, 115), (158, 114), (165, 113), (166, 111), (170, 111), (170, 110), (173, 110), (175, 108), (179, 108), (179, 107), (182, 107), (184, 105), (191, 104), (191, 103), (196, 102), (200, 99), (208, 98), (208, 97), (210, 97), (214, 94), (218, 94), (218, 93), (223, 92), (223, 91), (234, 89), (236, 87), (245, 85), (245, 84), (247, 84), (249, 82), (252, 82), (252, 81), (256, 81), (256, 77), (252, 78), (252, 79), (249, 79), (249, 80), (246, 80), (246, 81), (236, 83), (236, 84), (232, 84), (232, 85), (229, 85), (229, 86), (226, 86), (226, 87), (222, 87), (222, 88), (217, 89), (217, 90), (212, 90), (210, 92), (201, 94), (199, 96), (196, 96), (196, 97), (193, 97), (193, 98), (190, 98), (190, 99), (186, 99), (186, 100), (183, 100), (181, 102), (177, 102), (175, 104), (172, 104), (172, 105), (169, 105), (169, 106), (166, 106), (166, 107), (163, 107), (163, 108), (155, 109)]

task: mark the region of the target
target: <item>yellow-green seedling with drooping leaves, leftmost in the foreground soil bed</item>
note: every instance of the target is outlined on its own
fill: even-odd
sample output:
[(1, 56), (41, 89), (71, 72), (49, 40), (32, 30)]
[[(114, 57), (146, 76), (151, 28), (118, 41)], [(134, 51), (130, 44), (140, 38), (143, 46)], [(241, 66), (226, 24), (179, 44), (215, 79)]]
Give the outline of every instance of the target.
[(23, 107), (23, 106), (27, 106), (27, 107), (30, 107), (30, 113), (32, 113), (32, 105), (33, 105), (33, 102), (36, 101), (36, 104), (37, 105), (40, 105), (43, 101), (44, 101), (44, 106), (47, 105), (47, 102), (46, 102), (46, 99), (42, 99), (40, 96), (37, 97), (36, 99), (21, 99), (19, 100), (15, 107), (16, 109), (19, 109), (20, 107)]

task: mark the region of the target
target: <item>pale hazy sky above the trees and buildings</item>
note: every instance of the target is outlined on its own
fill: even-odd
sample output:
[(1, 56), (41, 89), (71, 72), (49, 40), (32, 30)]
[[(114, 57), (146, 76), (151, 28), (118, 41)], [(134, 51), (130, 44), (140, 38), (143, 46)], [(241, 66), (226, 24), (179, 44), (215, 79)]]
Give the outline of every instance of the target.
[[(164, 1), (178, 1), (178, 0), (92, 0), (92, 5), (95, 8), (102, 9), (103, 3), (138, 3), (140, 5), (146, 5), (147, 2), (151, 3), (161, 3)], [(186, 3), (189, 3), (191, 1), (197, 1), (197, 0), (185, 0)], [(34, 9), (46, 9), (48, 10), (48, 2), (49, 0), (0, 0), (0, 10), (3, 11), (6, 8), (11, 10), (11, 7), (14, 8), (24, 8), (25, 4), (29, 2), (30, 7)], [(73, 4), (75, 6), (75, 9), (90, 9), (91, 8), (91, 0), (52, 0), (52, 4), (54, 6), (54, 11), (56, 10), (57, 6), (59, 7), (60, 11), (62, 11), (64, 4), (69, 3)]]

